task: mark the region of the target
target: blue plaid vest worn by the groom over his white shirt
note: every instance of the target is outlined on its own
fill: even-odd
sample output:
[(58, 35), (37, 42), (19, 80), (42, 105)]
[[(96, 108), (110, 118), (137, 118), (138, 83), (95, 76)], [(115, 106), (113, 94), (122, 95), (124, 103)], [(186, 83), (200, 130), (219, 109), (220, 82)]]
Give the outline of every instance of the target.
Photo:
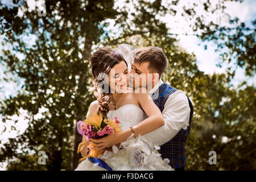
[[(163, 83), (159, 86), (159, 96), (155, 100), (155, 104), (159, 107), (161, 112), (164, 109), (164, 104), (167, 101), (167, 98), (175, 93), (177, 89), (173, 88), (172, 86)], [(154, 93), (155, 94), (155, 93)], [(179, 133), (175, 135), (169, 142), (164, 143), (160, 147), (160, 154), (162, 158), (168, 158), (170, 160), (170, 166), (172, 168), (184, 168), (186, 165), (186, 158), (185, 158), (185, 142), (187, 140), (189, 131), (191, 129), (191, 119), (193, 115), (193, 105), (188, 98), (188, 103), (190, 107), (190, 115), (189, 115), (189, 126), (187, 130), (181, 129)]]

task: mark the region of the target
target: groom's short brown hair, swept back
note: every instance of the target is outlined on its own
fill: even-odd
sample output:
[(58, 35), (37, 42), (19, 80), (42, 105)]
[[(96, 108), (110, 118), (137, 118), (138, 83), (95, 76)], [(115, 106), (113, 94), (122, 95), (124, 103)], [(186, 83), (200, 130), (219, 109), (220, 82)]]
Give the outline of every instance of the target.
[(164, 70), (168, 66), (168, 60), (164, 55), (161, 48), (158, 47), (143, 47), (138, 49), (134, 63), (142, 64), (149, 62), (148, 69), (159, 73), (159, 77), (162, 76)]

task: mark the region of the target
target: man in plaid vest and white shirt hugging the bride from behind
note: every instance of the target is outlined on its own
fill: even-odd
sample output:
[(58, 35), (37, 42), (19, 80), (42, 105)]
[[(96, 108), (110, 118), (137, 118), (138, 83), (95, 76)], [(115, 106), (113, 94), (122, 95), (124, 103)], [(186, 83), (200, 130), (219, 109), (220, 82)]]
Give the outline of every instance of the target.
[(138, 49), (130, 72), (129, 86), (146, 87), (163, 114), (165, 124), (143, 136), (160, 146), (162, 158), (168, 158), (172, 168), (183, 171), (186, 164), (185, 142), (191, 129), (193, 106), (184, 92), (161, 80), (167, 65), (168, 60), (162, 49)]

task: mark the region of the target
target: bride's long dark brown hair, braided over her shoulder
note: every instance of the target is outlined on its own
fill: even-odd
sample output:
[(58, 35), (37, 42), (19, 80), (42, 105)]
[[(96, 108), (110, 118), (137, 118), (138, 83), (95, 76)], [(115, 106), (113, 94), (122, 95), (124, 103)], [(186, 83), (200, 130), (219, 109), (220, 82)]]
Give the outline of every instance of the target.
[[(106, 117), (106, 115), (108, 114), (109, 106), (110, 104), (113, 104), (113, 102), (108, 83), (104, 84), (104, 86), (107, 85), (108, 88), (104, 88), (104, 86), (99, 86), (104, 78), (98, 79), (98, 76), (101, 73), (105, 73), (106, 75), (108, 75), (110, 69), (112, 69), (115, 64), (118, 64), (121, 61), (125, 61), (123, 56), (120, 53), (114, 52), (111, 48), (100, 48), (90, 57), (90, 65), (92, 67), (94, 86), (93, 94), (94, 96), (96, 96), (98, 104), (100, 105), (100, 108), (98, 109), (98, 114), (102, 114), (104, 117)], [(109, 92), (102, 93), (99, 87), (103, 90), (108, 90)]]

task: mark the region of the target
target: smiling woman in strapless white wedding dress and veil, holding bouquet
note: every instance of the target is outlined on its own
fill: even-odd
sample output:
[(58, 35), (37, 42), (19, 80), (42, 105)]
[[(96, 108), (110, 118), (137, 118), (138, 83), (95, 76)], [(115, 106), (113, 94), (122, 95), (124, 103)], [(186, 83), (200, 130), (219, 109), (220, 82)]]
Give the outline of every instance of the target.
[[(134, 57), (135, 47), (127, 44), (122, 44), (115, 50), (98, 49), (90, 57), (97, 101), (90, 104), (86, 117), (97, 112), (106, 118), (117, 119), (122, 132), (101, 139), (89, 139), (94, 150), (111, 147), (112, 150), (105, 150), (98, 158), (82, 160), (76, 171), (174, 170), (168, 164), (168, 159), (162, 159), (157, 151), (160, 147), (141, 136), (164, 125), (164, 119), (146, 88), (133, 90), (128, 87), (128, 74)], [(86, 137), (83, 136), (82, 141), (85, 140)], [(90, 148), (84, 146), (82, 156), (86, 156), (88, 150)]]

